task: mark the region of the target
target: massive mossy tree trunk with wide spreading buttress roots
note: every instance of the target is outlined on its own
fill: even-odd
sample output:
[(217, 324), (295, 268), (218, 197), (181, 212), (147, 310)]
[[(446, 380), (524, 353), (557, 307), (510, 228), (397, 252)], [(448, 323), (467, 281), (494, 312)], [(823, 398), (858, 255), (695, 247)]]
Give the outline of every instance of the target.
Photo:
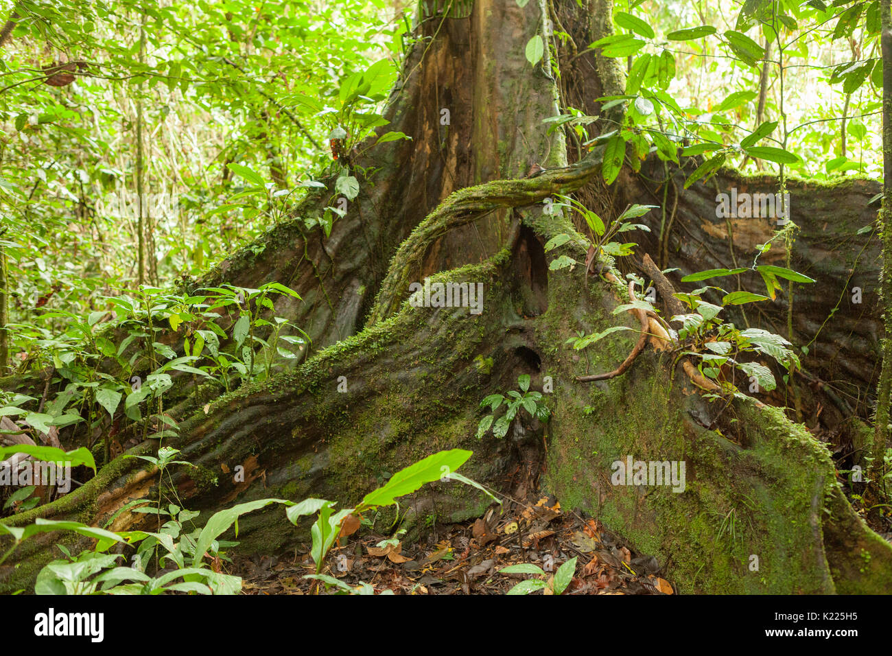
[[(556, 11), (548, 16), (551, 4)], [(671, 368), (665, 352), (646, 351), (620, 378), (576, 380), (613, 370), (631, 349), (634, 339), (620, 334), (590, 349), (588, 358), (565, 346), (577, 330), (614, 324), (612, 309), (626, 300), (626, 292), (582, 266), (549, 270), (561, 254), (582, 262), (586, 253), (581, 238), (544, 252), (549, 238), (574, 234), (574, 227), (566, 217), (543, 212), (542, 201), (575, 191), (613, 216), (611, 208), (661, 196), (647, 180), (664, 179), (661, 166), (646, 162), (648, 177), (624, 175), (606, 189), (599, 182), (598, 150), (586, 154), (573, 142), (567, 148), (558, 133), (546, 132), (542, 120), (558, 111), (558, 84), (524, 59), (524, 45), (537, 32), (548, 32), (546, 23), (559, 22), (574, 37), (558, 52), (567, 103), (597, 113), (596, 98), (623, 90), (615, 62), (592, 54), (574, 57), (574, 49), (582, 51), (610, 25), (609, 3), (582, 4), (580, 9), (575, 0), (532, 0), (520, 8), (505, 0), (477, 0), (467, 15), (434, 12), (419, 28), (431, 38), (418, 41), (409, 54), (387, 111), (387, 129), (412, 140), (370, 151), (361, 164), (377, 171), (331, 236), (303, 223), (329, 203), (326, 191), (308, 198), (293, 220), (195, 281), (196, 287), (256, 287), (268, 280), (293, 286), (303, 303), (280, 301), (276, 311), (310, 333), (314, 351), (297, 369), (244, 386), (210, 406), (202, 407), (205, 400), (197, 392), (184, 395), (174, 411), (182, 419), (179, 436), (166, 444), (180, 448), (197, 469), (175, 470), (164, 486), (174, 486), (187, 507), (202, 511), (271, 496), (349, 503), (376, 486), (385, 470), (442, 448), (466, 447), (475, 451), (468, 476), (516, 495), (543, 486), (565, 507), (596, 514), (640, 552), (657, 555), (682, 591), (888, 590), (892, 549), (849, 507), (827, 448), (782, 411), (739, 400), (721, 411), (723, 404), (706, 402), (681, 370)], [(442, 109), (450, 110), (449, 126), (441, 124)], [(523, 178), (533, 163), (548, 170)], [(670, 173), (676, 180), (683, 175)], [(771, 179), (723, 176), (722, 185), (772, 186)], [(729, 265), (729, 248), (741, 259), (751, 257), (749, 241), (764, 238), (744, 226), (729, 238), (723, 222), (714, 220), (714, 209), (710, 218), (711, 188), (712, 183), (695, 186), (679, 195), (665, 243), (644, 241), (640, 253), (657, 262), (665, 258), (666, 266), (681, 267), (682, 273)], [(869, 222), (870, 194), (866, 187), (821, 195), (803, 189), (800, 200), (805, 206), (843, 198), (853, 217), (863, 214), (863, 225)], [(657, 228), (661, 222), (657, 212), (648, 220)], [(837, 235), (842, 228), (815, 221), (804, 227), (797, 268), (848, 285), (847, 265), (822, 257), (833, 248), (825, 230)], [(405, 303), (409, 283), (439, 271), (441, 282), (483, 283), (483, 312)], [(862, 271), (866, 290), (875, 278), (871, 270)], [(831, 305), (826, 291), (797, 288), (798, 293), (795, 329), (801, 339), (814, 335), (812, 323)], [(807, 294), (821, 308), (813, 312), (806, 306)], [(870, 302), (864, 306), (865, 316), (875, 320)], [(779, 301), (748, 319), (771, 328), (784, 312)], [(830, 348), (847, 329), (875, 339), (867, 324), (831, 322), (816, 343), (821, 361), (836, 353), (838, 366), (862, 389), (871, 382), (864, 365), (872, 366), (871, 343)], [(477, 356), (491, 358), (491, 370), (477, 366)], [(821, 361), (809, 366), (827, 380)], [(520, 373), (529, 373), (540, 390), (550, 377), (551, 421), (517, 421), (502, 440), (476, 440), (478, 403), (486, 394), (515, 388)], [(342, 376), (346, 393), (337, 391)], [(866, 414), (866, 405), (849, 403)], [(147, 442), (132, 453), (155, 448)], [(611, 462), (627, 455), (685, 461), (686, 490), (611, 485)], [(244, 466), (242, 482), (224, 473), (236, 465)], [(12, 520), (21, 525), (36, 517), (77, 518), (102, 525), (129, 500), (155, 494), (158, 485), (156, 469), (119, 458), (71, 494)], [(474, 517), (486, 505), (471, 488), (435, 484), (404, 507), (406, 520), (418, 527), (431, 515)], [(723, 529), (731, 516), (742, 527), (733, 536)], [(124, 511), (111, 527), (141, 521), (144, 515)], [(301, 537), (280, 509), (254, 513), (240, 524), (246, 551), (272, 552)], [(38, 536), (22, 545), (16, 555), (20, 567), (0, 572), (0, 590), (28, 585), (59, 539)]]

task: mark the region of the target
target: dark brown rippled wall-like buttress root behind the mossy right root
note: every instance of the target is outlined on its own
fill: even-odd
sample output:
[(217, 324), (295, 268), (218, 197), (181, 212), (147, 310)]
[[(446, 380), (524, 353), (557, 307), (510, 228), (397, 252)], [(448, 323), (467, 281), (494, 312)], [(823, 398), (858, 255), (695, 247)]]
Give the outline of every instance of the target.
[[(639, 252), (659, 253), (662, 266), (678, 268), (668, 274), (678, 290), (712, 284), (728, 291), (746, 289), (765, 294), (764, 283), (755, 271), (739, 278), (714, 278), (702, 283), (681, 283), (681, 278), (702, 270), (753, 265), (756, 245), (771, 239), (777, 228), (775, 220), (717, 216), (716, 197), (720, 193), (730, 195), (732, 189), (741, 195), (774, 194), (777, 180), (722, 170), (706, 184), (696, 183), (684, 190), (690, 166), (682, 170), (667, 167), (667, 177), (663, 162), (648, 159), (640, 175), (621, 181), (615, 198), (619, 210), (633, 202), (662, 204), (663, 187), (668, 186), (665, 215), (661, 208), (643, 217), (651, 231), (640, 236)], [(790, 219), (800, 228), (791, 253), (792, 268), (816, 281), (793, 287), (797, 308), (793, 341), (797, 347), (807, 346), (808, 353), (800, 353), (803, 370), (792, 384), (804, 395), (805, 424), (821, 428), (822, 439), (831, 444), (834, 453), (844, 455), (846, 464), (862, 462), (867, 446), (863, 443), (863, 421), (871, 419), (876, 409), (874, 389), (880, 374), (878, 353), (883, 335), (878, 284), (880, 239), (871, 228), (876, 220), (880, 184), (855, 179), (827, 187), (791, 180), (788, 190)], [(861, 228), (869, 229), (858, 234)], [(758, 263), (786, 266), (786, 256), (784, 244), (774, 243)], [(638, 270), (631, 265), (628, 269)], [(713, 301), (719, 298), (718, 293), (708, 295), (713, 295)], [(780, 291), (773, 302), (747, 305), (744, 311), (726, 311), (736, 325), (786, 335), (786, 290)], [(760, 398), (765, 403), (785, 404), (791, 394), (789, 388), (779, 386), (776, 393)]]

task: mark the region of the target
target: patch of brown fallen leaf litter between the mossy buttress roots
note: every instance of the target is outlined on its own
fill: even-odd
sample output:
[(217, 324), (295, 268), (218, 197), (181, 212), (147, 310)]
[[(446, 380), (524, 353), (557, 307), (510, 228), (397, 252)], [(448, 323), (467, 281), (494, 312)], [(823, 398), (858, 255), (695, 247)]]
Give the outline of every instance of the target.
[[(366, 583), (376, 594), (505, 594), (525, 578), (550, 579), (576, 557), (565, 594), (673, 594), (654, 556), (636, 556), (597, 519), (563, 511), (549, 497), (505, 501), (501, 512), (496, 507), (466, 524), (436, 525), (417, 544), (387, 540), (368, 532), (348, 537), (332, 548), (325, 573), (351, 587)], [(499, 573), (520, 563), (546, 574)], [(314, 594), (317, 585), (326, 592), (326, 585), (304, 578), (314, 570), (307, 544), (281, 557), (236, 558), (234, 569), (244, 578), (244, 594)]]

